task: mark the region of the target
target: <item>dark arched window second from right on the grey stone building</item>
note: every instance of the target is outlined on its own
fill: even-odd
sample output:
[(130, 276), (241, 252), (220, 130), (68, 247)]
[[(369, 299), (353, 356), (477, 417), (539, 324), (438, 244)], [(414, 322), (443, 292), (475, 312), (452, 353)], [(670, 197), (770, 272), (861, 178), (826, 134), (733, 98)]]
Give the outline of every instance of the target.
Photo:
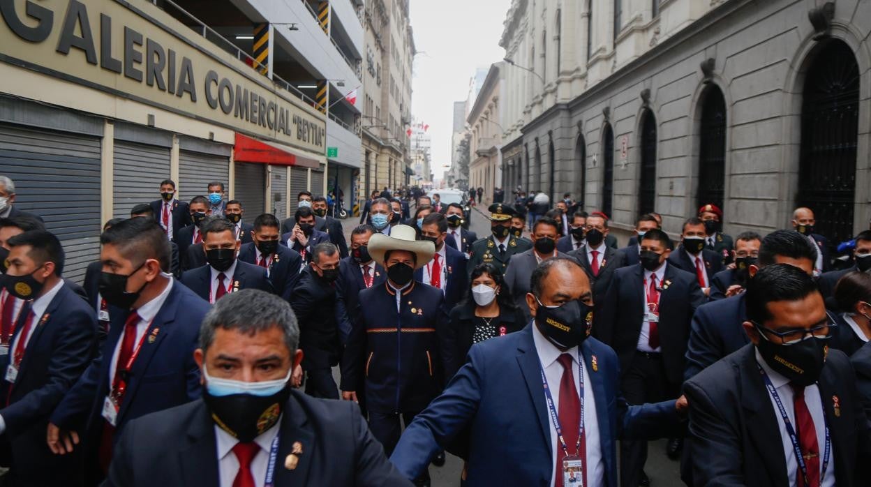
[(702, 93), (699, 128), (699, 190), (696, 206), (723, 207), (726, 188), (726, 99), (716, 85)]

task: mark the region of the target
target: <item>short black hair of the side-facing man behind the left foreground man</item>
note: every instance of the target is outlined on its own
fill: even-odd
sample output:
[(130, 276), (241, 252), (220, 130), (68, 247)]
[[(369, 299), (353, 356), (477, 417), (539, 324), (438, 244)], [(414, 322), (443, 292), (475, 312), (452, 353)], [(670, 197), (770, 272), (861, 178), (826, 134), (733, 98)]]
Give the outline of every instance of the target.
[(121, 220), (100, 235), (100, 244), (118, 247), (118, 254), (138, 267), (148, 259), (157, 259), (160, 268), (169, 272), (170, 247), (166, 233), (148, 218)]

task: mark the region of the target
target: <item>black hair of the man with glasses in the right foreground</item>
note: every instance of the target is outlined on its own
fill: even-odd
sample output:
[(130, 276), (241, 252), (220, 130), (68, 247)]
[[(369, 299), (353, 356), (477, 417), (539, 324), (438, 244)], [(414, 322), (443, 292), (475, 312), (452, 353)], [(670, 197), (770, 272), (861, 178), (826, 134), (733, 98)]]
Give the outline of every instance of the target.
[(799, 301), (808, 294), (819, 292), (816, 281), (799, 267), (789, 264), (763, 267), (753, 279), (747, 280), (747, 319), (761, 324), (772, 318), (768, 303)]

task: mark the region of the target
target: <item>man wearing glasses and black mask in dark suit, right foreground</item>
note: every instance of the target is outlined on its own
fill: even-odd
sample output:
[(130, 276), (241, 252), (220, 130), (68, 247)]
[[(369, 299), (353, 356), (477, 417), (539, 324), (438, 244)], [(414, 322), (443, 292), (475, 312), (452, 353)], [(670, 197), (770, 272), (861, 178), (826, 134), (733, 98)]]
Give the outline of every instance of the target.
[(753, 343), (685, 384), (696, 485), (866, 485), (871, 427), (822, 296), (775, 264), (747, 285)]

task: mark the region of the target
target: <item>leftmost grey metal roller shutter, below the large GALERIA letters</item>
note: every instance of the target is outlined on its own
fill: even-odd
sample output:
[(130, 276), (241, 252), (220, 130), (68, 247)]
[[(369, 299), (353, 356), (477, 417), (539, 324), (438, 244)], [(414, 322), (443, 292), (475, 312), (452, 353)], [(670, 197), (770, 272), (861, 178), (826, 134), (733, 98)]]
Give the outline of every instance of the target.
[(15, 181), (15, 206), (61, 240), (64, 277), (82, 281), (99, 258), (100, 139), (0, 124), (0, 168)]

